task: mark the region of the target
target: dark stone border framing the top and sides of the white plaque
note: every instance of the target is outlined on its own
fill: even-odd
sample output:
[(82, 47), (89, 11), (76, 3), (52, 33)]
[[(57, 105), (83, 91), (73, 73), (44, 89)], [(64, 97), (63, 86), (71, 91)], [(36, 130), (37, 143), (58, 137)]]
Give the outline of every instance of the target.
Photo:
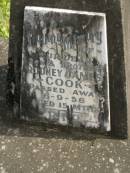
[[(64, 9), (103, 12), (107, 15), (108, 60), (110, 75), (111, 133), (127, 137), (126, 79), (123, 51), (123, 31), (119, 0), (12, 0), (9, 44), (8, 91), (9, 103), (17, 112), (20, 101), (20, 67), (22, 60), (22, 36), (24, 7), (44, 6)], [(18, 116), (18, 115), (17, 115)]]

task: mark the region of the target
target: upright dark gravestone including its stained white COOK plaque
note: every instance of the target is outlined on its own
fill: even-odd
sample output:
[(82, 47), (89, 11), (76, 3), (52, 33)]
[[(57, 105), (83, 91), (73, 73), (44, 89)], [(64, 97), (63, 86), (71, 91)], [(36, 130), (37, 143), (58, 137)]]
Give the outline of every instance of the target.
[[(31, 7), (26, 7), (26, 6), (31, 6)], [(42, 8), (44, 7), (44, 9), (36, 10), (36, 6), (42, 7)], [(88, 40), (89, 42), (86, 44), (85, 41), (83, 41), (82, 38), (80, 38), (78, 40), (78, 42), (81, 41), (80, 44), (78, 44), (79, 48), (76, 49), (76, 50), (80, 49), (80, 51), (74, 50), (75, 47), (73, 44), (63, 45), (63, 48), (67, 49), (67, 53), (69, 52), (68, 58), (70, 58), (70, 55), (71, 55), (71, 51), (69, 51), (68, 49), (70, 47), (73, 47), (73, 50), (72, 50), (74, 51), (73, 55), (75, 54), (74, 62), (72, 57), (71, 59), (67, 61), (66, 60), (62, 61), (61, 56), (60, 58), (56, 57), (56, 59), (54, 57), (52, 58), (50, 55), (50, 48), (48, 51), (47, 49), (45, 49), (45, 46), (43, 46), (43, 43), (46, 40), (45, 39), (46, 37), (44, 37), (45, 40), (42, 40), (43, 38), (41, 39), (41, 37), (39, 37), (40, 35), (39, 33), (41, 32), (40, 28), (39, 30), (36, 28), (34, 30), (31, 29), (30, 25), (32, 25), (32, 23), (37, 23), (36, 25), (39, 25), (39, 26), (43, 25), (41, 22), (42, 21), (41, 18), (45, 18), (46, 24), (47, 24), (49, 22), (47, 21), (47, 19), (51, 15), (53, 17), (51, 18), (52, 20), (50, 24), (51, 26), (49, 26), (50, 28), (49, 30), (52, 30), (52, 28), (55, 29), (56, 27), (55, 23), (56, 25), (57, 23), (59, 23), (59, 21), (55, 21), (56, 20), (56, 18), (54, 18), (55, 12), (53, 10), (52, 10), (53, 13), (50, 11), (47, 12), (48, 14), (51, 13), (51, 15), (49, 16), (46, 16), (44, 14), (45, 7), (49, 7), (51, 8), (51, 10), (52, 8), (75, 10), (76, 11), (75, 14), (73, 14), (73, 12), (71, 14), (68, 14), (66, 11), (67, 14), (64, 13), (64, 15), (67, 17), (65, 18), (63, 17), (64, 15), (62, 15), (63, 13), (62, 10), (57, 15), (59, 16), (59, 19), (63, 21), (63, 23), (64, 21), (66, 22), (65, 27), (68, 27), (68, 26), (72, 27), (72, 25), (74, 25), (76, 37), (78, 35), (78, 37), (80, 38), (80, 36), (82, 35), (81, 30), (83, 30), (83, 28), (85, 29), (86, 27), (85, 25), (88, 24), (88, 28), (89, 28), (88, 33), (91, 33), (91, 34), (86, 34), (86, 37), (87, 37), (87, 42)], [(24, 9), (25, 9), (25, 17), (24, 17)], [(35, 19), (33, 18), (34, 13), (38, 14), (35, 16)], [(29, 18), (33, 21), (29, 20)], [(112, 135), (123, 137), (123, 138), (127, 137), (127, 104), (126, 104), (126, 88), (125, 88), (126, 80), (125, 80), (124, 45), (123, 45), (123, 30), (122, 30), (120, 0), (116, 0), (116, 1), (115, 0), (109, 0), (109, 1), (107, 0), (93, 0), (93, 1), (91, 0), (86, 0), (86, 1), (84, 0), (77, 0), (77, 1), (74, 1), (74, 0), (69, 0), (69, 1), (68, 0), (64, 0), (64, 1), (61, 1), (61, 0), (55, 0), (55, 1), (54, 0), (50, 0), (50, 1), (19, 0), (17, 2), (15, 0), (12, 0), (10, 21), (11, 21), (11, 25), (10, 25), (10, 45), (9, 45), (9, 71), (8, 71), (9, 82), (8, 82), (7, 99), (11, 107), (13, 107), (13, 112), (15, 113), (16, 116), (19, 116), (20, 118), (24, 118), (26, 120), (33, 119), (35, 117), (36, 119), (38, 118), (38, 120), (40, 121), (40, 120), (43, 120), (43, 117), (44, 117), (43, 114), (45, 113), (44, 115), (47, 117), (46, 120), (48, 121), (48, 117), (49, 118), (51, 117), (50, 116), (51, 113), (49, 113), (49, 111), (53, 107), (52, 115), (56, 115), (56, 119), (57, 119), (57, 116), (60, 117), (59, 115), (62, 115), (62, 114), (63, 116), (68, 115), (67, 120), (65, 120), (65, 122), (69, 122), (69, 124), (73, 126), (79, 126), (79, 122), (80, 123), (82, 122), (81, 120), (79, 120), (79, 117), (74, 116), (76, 117), (75, 119), (77, 119), (78, 117), (78, 122), (74, 123), (74, 119), (71, 116), (76, 114), (76, 111), (74, 109), (75, 107), (74, 105), (76, 104), (72, 104), (72, 101), (76, 101), (76, 103), (79, 103), (77, 104), (78, 107), (76, 107), (76, 109), (80, 110), (78, 115), (81, 115), (84, 113), (87, 114), (87, 116), (86, 115), (81, 116), (83, 117), (83, 119), (81, 118), (83, 122), (85, 120), (84, 119), (85, 117), (94, 117), (90, 125), (88, 125), (89, 119), (86, 119), (85, 121), (87, 123), (86, 124), (81, 123), (82, 126), (96, 127), (96, 128), (103, 127), (105, 128), (105, 130), (110, 130), (110, 125), (111, 125)], [(84, 23), (84, 21), (86, 22)], [(89, 25), (89, 21), (90, 23), (92, 22), (92, 24)], [(106, 30), (105, 23), (107, 24), (107, 30)], [(100, 32), (100, 29), (101, 29), (101, 32)], [(28, 30), (27, 33), (26, 33), (26, 30)], [(72, 28), (70, 30), (72, 30)], [(37, 42), (36, 50), (32, 49), (32, 47), (26, 46), (26, 43), (28, 42), (28, 37), (31, 38), (31, 35), (34, 34), (33, 32), (37, 32), (37, 33), (35, 34), (35, 37), (33, 37), (34, 39), (32, 39), (31, 44), (35, 45), (36, 44), (35, 39), (39, 40)], [(67, 34), (68, 32), (71, 33), (69, 29), (65, 32), (67, 32)], [(47, 33), (49, 33), (48, 35), (50, 35), (50, 32), (47, 31)], [(23, 36), (24, 36), (24, 39), (23, 39)], [(55, 39), (56, 38), (53, 37), (51, 41), (54, 42)], [(74, 39), (74, 40), (77, 40), (77, 39)], [(94, 46), (94, 49), (92, 51), (90, 47), (92, 46), (91, 41), (93, 40), (94, 40), (94, 43), (92, 45)], [(108, 54), (107, 54), (107, 40), (108, 40)], [(84, 46), (83, 46), (84, 44), (86, 44), (86, 49), (85, 49), (86, 55), (84, 53)], [(96, 44), (98, 46), (95, 46)], [(55, 55), (56, 51), (62, 52), (61, 50), (59, 48), (57, 49), (54, 48), (51, 51), (52, 52), (54, 51), (55, 52), (54, 55)], [(92, 55), (90, 52), (92, 53)], [(77, 54), (78, 55), (84, 54), (84, 56), (86, 57), (86, 59), (83, 60), (84, 64), (83, 62), (82, 63), (80, 62), (81, 61), (79, 58), (80, 56), (77, 56)], [(91, 57), (91, 61), (90, 61), (90, 57)], [(34, 59), (36, 60), (35, 63), (34, 63)], [(68, 62), (68, 67), (67, 67), (67, 63), (65, 62)], [(48, 63), (52, 64), (52, 66), (51, 66), (51, 70), (47, 72), (44, 70), (44, 66), (48, 67), (49, 66)], [(71, 72), (70, 66), (73, 65), (74, 63), (76, 64), (75, 67), (78, 70), (76, 71), (76, 68), (74, 68), (75, 73), (73, 73), (74, 75), (73, 76), (69, 72)], [(81, 70), (79, 70), (80, 66), (81, 66)], [(86, 69), (86, 67), (88, 68)], [(109, 73), (108, 73), (108, 69), (109, 69)], [(65, 70), (70, 76), (65, 76)], [(79, 72), (81, 72), (80, 73), (81, 76), (79, 76), (78, 74)], [(83, 84), (81, 84), (81, 88), (77, 90), (76, 88), (77, 87), (76, 81), (78, 81), (77, 79), (84, 77), (84, 73), (88, 74), (89, 72), (91, 73), (90, 75), (91, 77), (89, 76), (91, 79), (88, 77), (89, 78), (88, 83), (91, 85), (91, 87), (89, 88), (88, 83), (85, 80)], [(46, 73), (48, 74), (46, 75)], [(33, 74), (33, 78), (31, 77), (32, 74)], [(57, 79), (59, 80), (57, 81)], [(52, 84), (53, 86), (49, 88), (47, 82), (49, 85)], [(101, 86), (100, 82), (101, 83), (103, 82), (102, 83), (103, 87), (100, 87)], [(63, 87), (55, 86), (56, 84), (61, 85), (62, 83), (63, 83)], [(70, 87), (68, 87), (71, 85), (73, 85), (72, 90)], [(78, 84), (78, 86), (80, 85)], [(90, 90), (88, 90), (88, 88)], [(35, 94), (33, 95), (32, 93), (34, 90), (35, 90)], [(46, 93), (49, 93), (50, 103), (52, 104), (51, 106), (49, 105), (50, 103), (48, 103), (45, 100), (45, 97), (42, 97), (42, 94), (44, 94), (43, 92), (44, 90), (47, 91)], [(92, 90), (94, 92), (92, 92)], [(60, 92), (65, 92), (65, 93), (60, 93)], [(80, 98), (78, 94), (79, 93), (82, 94), (85, 92), (87, 93), (86, 96), (82, 97), (85, 100), (84, 103), (80, 103), (80, 102), (83, 102), (83, 99), (77, 102), (76, 99)], [(110, 93), (110, 106), (109, 106), (109, 93)], [(60, 95), (60, 96), (57, 97), (57, 95)], [(75, 95), (75, 100), (70, 99), (73, 97), (73, 95)], [(88, 95), (89, 97), (91, 96), (91, 98), (88, 98)], [(31, 96), (31, 100), (27, 100), (28, 98), (30, 98), (30, 96)], [(64, 102), (60, 102), (59, 100), (57, 100), (57, 99), (61, 99), (61, 96)], [(67, 102), (65, 99), (68, 99), (69, 101)], [(91, 100), (92, 102), (89, 100)], [(66, 103), (69, 103), (69, 104), (66, 104)], [(87, 112), (81, 111), (80, 105), (86, 106)], [(33, 109), (31, 109), (32, 107), (30, 106), (33, 106)], [(56, 113), (54, 112), (54, 106), (56, 108), (55, 110)], [(62, 106), (63, 108), (62, 110), (60, 106)], [(30, 109), (27, 109), (28, 107)], [(94, 107), (96, 107), (96, 109), (94, 109), (95, 113), (93, 115), (89, 114), (88, 109), (92, 110), (92, 108)], [(34, 115), (32, 115), (31, 112), (29, 112), (29, 114), (27, 115), (26, 110), (32, 111)], [(99, 114), (101, 116), (99, 116)], [(96, 118), (98, 117), (98, 118), (95, 119), (95, 117)], [(59, 121), (52, 120), (52, 122), (55, 123)]]

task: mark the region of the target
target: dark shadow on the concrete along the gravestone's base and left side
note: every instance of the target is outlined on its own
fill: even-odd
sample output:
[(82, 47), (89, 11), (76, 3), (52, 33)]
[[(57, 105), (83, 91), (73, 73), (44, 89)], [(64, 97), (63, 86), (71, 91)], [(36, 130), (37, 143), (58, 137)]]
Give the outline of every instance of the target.
[(18, 137), (41, 137), (94, 141), (96, 138), (108, 138), (108, 134), (97, 130), (63, 127), (53, 124), (27, 122), (13, 118), (12, 109), (6, 103), (8, 65), (0, 66), (0, 135)]

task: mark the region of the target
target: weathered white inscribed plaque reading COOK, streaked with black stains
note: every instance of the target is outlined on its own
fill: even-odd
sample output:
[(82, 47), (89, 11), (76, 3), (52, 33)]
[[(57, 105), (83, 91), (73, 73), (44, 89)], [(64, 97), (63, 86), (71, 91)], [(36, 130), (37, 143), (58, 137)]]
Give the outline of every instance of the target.
[(110, 130), (105, 15), (26, 7), (21, 118)]

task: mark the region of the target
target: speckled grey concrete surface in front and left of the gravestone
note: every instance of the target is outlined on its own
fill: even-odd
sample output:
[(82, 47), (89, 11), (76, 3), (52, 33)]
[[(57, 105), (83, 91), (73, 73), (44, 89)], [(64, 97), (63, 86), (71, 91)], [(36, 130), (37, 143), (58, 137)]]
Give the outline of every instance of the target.
[(0, 39), (0, 173), (129, 173), (130, 141), (7, 119), (7, 41)]

